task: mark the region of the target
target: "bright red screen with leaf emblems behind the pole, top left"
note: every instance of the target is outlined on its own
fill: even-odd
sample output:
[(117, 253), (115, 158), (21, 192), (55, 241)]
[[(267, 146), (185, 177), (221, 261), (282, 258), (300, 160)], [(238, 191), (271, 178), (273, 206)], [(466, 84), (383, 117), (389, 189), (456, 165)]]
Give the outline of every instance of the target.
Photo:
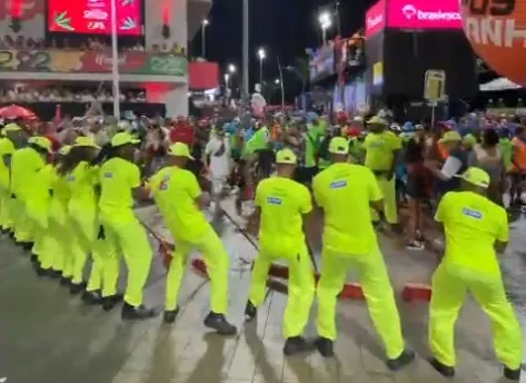
[[(117, 32), (142, 35), (142, 0), (117, 1)], [(111, 33), (111, 0), (49, 0), (48, 29), (51, 32)]]

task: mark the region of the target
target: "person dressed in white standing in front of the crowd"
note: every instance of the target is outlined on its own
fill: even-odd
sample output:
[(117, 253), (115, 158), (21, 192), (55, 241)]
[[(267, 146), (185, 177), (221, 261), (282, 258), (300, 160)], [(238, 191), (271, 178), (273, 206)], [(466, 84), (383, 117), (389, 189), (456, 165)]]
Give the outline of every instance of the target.
[(211, 135), (210, 140), (205, 148), (205, 164), (209, 169), (210, 180), (212, 184), (212, 196), (217, 204), (221, 196), (221, 192), (230, 175), (230, 145), (225, 137), (222, 127), (216, 128), (216, 132)]

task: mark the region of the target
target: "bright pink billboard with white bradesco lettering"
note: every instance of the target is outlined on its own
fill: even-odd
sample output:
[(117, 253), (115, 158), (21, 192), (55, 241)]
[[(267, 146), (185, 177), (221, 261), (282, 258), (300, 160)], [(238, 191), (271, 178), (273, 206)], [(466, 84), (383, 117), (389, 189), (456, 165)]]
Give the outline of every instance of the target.
[(388, 29), (460, 30), (458, 0), (380, 0), (366, 12), (366, 37)]

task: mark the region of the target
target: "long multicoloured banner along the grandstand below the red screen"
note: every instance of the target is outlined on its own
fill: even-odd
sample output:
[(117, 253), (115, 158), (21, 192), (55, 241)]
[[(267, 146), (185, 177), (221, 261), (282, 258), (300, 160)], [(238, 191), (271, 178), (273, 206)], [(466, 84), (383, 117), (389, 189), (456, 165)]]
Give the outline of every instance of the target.
[[(177, 76), (188, 72), (185, 56), (171, 53), (125, 52), (119, 55), (122, 75)], [(110, 52), (76, 50), (0, 50), (1, 71), (108, 73)]]

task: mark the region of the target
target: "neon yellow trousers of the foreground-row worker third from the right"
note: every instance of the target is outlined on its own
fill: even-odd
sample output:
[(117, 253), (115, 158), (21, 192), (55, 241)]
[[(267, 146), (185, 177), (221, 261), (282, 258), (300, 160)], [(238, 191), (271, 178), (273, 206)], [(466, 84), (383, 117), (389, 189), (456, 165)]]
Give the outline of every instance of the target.
[[(279, 243), (279, 238), (276, 238), (276, 242)], [(270, 265), (279, 258), (287, 262), (289, 269), (288, 299), (284, 316), (284, 336), (286, 338), (304, 333), (309, 321), (310, 306), (316, 291), (312, 262), (307, 245), (304, 243), (299, 248), (296, 257), (282, 258), (282, 256), (269, 254), (262, 247), (254, 263), (251, 275), (249, 299), (257, 307), (265, 299)]]

